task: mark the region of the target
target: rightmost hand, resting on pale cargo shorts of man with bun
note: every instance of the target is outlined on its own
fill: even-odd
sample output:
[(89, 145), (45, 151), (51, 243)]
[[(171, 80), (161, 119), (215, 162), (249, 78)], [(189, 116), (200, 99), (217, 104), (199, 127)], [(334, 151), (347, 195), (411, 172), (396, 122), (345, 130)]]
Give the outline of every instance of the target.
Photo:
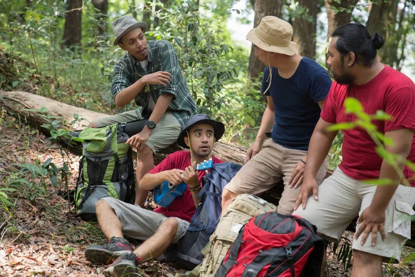
[(355, 234), (355, 239), (358, 239), (363, 233), (360, 244), (365, 244), (367, 236), (369, 233), (372, 233), (371, 245), (374, 246), (376, 244), (376, 238), (378, 237), (378, 231), (380, 231), (382, 240), (386, 240), (384, 210), (379, 210), (372, 206), (365, 208), (358, 219), (358, 224), (360, 224), (360, 226)]

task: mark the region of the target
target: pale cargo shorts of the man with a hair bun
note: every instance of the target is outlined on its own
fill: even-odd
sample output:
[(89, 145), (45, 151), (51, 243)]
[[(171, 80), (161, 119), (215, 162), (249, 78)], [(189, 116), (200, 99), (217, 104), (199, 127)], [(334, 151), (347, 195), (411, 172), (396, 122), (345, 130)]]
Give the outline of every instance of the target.
[[(294, 215), (305, 218), (315, 226), (324, 238), (338, 242), (351, 221), (367, 208), (374, 198), (376, 186), (362, 182), (345, 175), (336, 168), (331, 177), (325, 179), (318, 188), (318, 201), (309, 197), (306, 209), (300, 206)], [(411, 218), (415, 211), (415, 188), (399, 185), (387, 206), (385, 217), (385, 242), (380, 233), (376, 245), (371, 246), (371, 234), (364, 245), (360, 244), (362, 235), (353, 240), (352, 248), (358, 251), (384, 257), (385, 262), (391, 258), (398, 262), (405, 240), (411, 238)], [(356, 226), (356, 231), (358, 230)]]

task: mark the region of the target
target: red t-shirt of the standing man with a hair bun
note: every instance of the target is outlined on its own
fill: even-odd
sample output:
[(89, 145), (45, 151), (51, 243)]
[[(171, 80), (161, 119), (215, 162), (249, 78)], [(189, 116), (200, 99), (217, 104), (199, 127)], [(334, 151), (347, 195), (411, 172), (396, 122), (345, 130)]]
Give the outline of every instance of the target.
[[(376, 114), (377, 110), (382, 110), (392, 116), (391, 120), (372, 120), (378, 132), (385, 134), (394, 129), (415, 130), (415, 84), (403, 73), (387, 65), (373, 80), (361, 86), (333, 82), (321, 118), (328, 123), (355, 120), (353, 114), (344, 113), (344, 100), (347, 97), (358, 99), (367, 114)], [(376, 144), (369, 134), (360, 127), (342, 132), (343, 159), (340, 169), (356, 180), (377, 179), (382, 158), (376, 153)], [(407, 159), (415, 162), (414, 140)], [(403, 173), (407, 178), (414, 176), (414, 172), (407, 167)], [(412, 181), (411, 186), (415, 186), (415, 181)]]

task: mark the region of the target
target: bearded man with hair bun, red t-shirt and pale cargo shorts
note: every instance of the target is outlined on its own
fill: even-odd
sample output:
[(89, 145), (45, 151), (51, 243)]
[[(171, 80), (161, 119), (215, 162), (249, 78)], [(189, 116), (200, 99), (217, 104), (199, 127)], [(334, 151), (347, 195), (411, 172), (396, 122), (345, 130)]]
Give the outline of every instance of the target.
[[(376, 60), (376, 50), (382, 45), (383, 38), (378, 33), (371, 37), (361, 24), (341, 26), (332, 34), (327, 64), (335, 82), (311, 136), (304, 181), (293, 213), (315, 224), (331, 241), (340, 240), (359, 216), (352, 245), (353, 277), (380, 277), (382, 261), (399, 261), (405, 240), (411, 238), (411, 215), (415, 214), (414, 172), (400, 162), (402, 171), (397, 172), (378, 155), (376, 143), (360, 127), (342, 131), (342, 163), (320, 186), (315, 181), (337, 134), (327, 128), (356, 120), (344, 111), (344, 100), (349, 97), (359, 100), (366, 114), (379, 110), (389, 114), (390, 120), (372, 120), (378, 132), (394, 141), (385, 145), (386, 150), (415, 162), (415, 84)], [(362, 182), (367, 179), (390, 179), (391, 184)]]

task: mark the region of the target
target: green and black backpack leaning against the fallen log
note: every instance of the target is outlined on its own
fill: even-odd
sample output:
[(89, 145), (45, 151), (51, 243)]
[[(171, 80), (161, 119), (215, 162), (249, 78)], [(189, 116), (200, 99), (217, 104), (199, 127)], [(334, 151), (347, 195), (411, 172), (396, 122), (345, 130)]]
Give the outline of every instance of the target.
[(96, 219), (95, 204), (104, 197), (133, 203), (136, 195), (132, 151), (125, 142), (126, 123), (86, 128), (80, 132), (82, 159), (75, 189), (77, 215)]

